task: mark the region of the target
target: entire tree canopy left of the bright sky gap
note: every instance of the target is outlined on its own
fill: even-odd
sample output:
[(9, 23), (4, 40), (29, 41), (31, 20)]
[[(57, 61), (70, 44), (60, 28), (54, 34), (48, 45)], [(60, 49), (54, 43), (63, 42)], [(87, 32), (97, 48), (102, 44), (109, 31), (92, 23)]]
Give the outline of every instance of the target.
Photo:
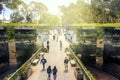
[(59, 24), (59, 17), (48, 13), (48, 8), (41, 2), (31, 1), (29, 4), (22, 0), (4, 0), (0, 2), (0, 12), (3, 4), (12, 10), (12, 23)]

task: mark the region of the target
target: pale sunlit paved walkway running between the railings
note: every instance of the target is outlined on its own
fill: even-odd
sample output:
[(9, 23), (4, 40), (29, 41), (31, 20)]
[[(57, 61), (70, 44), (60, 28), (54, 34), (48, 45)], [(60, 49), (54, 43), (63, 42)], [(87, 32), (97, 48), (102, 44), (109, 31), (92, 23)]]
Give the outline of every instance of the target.
[[(49, 36), (50, 41), (50, 52), (45, 53), (45, 58), (47, 59), (46, 68), (51, 65), (51, 68), (53, 69), (53, 66), (56, 66), (58, 69), (57, 73), (57, 80), (76, 80), (74, 76), (74, 67), (70, 66), (68, 72), (64, 72), (64, 58), (66, 57), (65, 48), (68, 47), (68, 43), (65, 41), (64, 33), (60, 34), (58, 36), (58, 39), (53, 40), (53, 35), (57, 32), (51, 31)], [(60, 43), (59, 41), (62, 41), (62, 50), (60, 50)], [(28, 78), (28, 80), (47, 80), (47, 72), (42, 71), (42, 64), (38, 63), (36, 66), (32, 66), (33, 73)], [(53, 80), (53, 75), (51, 75), (51, 80)]]

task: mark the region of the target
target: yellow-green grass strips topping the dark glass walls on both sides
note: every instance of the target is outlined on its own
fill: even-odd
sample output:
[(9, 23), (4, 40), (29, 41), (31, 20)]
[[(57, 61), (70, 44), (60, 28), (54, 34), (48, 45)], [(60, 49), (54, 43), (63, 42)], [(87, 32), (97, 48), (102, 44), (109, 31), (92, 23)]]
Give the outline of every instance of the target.
[[(32, 23), (0, 23), (0, 27), (47, 27), (47, 26), (53, 26), (51, 24), (32, 24)], [(74, 27), (120, 27), (120, 23), (80, 23), (80, 24), (69, 24), (68, 26), (74, 26)]]

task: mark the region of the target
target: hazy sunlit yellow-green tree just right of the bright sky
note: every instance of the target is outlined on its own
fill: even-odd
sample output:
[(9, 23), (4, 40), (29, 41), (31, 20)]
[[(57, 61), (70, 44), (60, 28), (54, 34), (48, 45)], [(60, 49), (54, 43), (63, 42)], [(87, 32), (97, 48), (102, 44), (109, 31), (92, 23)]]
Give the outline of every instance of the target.
[(90, 23), (90, 5), (83, 0), (71, 3), (68, 7), (60, 6), (63, 24)]

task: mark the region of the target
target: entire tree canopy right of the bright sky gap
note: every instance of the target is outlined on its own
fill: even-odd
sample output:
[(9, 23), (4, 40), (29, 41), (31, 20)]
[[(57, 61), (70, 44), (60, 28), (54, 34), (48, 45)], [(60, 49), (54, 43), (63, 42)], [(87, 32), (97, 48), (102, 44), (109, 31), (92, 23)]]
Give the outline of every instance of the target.
[(60, 6), (63, 24), (79, 23), (119, 23), (119, 0), (77, 0), (69, 6)]

